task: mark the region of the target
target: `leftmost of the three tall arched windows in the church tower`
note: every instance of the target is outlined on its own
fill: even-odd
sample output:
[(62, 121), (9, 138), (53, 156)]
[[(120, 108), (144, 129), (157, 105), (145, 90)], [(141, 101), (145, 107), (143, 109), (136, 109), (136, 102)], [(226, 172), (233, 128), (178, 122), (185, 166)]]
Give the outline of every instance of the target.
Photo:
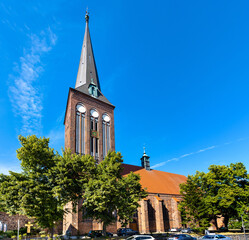
[(85, 113), (82, 103), (76, 105), (75, 152), (85, 154)]

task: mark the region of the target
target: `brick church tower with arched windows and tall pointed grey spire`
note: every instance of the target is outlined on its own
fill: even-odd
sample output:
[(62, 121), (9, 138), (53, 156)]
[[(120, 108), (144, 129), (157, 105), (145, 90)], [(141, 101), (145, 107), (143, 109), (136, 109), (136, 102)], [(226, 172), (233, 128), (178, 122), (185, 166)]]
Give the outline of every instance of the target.
[(81, 50), (75, 88), (69, 89), (65, 114), (65, 148), (90, 154), (100, 162), (115, 150), (114, 106), (100, 88), (89, 32), (89, 15)]

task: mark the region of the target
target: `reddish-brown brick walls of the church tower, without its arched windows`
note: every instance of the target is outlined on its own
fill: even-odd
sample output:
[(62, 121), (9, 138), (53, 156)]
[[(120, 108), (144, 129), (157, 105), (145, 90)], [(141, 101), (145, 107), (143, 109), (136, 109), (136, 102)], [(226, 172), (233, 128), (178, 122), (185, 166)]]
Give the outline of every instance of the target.
[[(76, 151), (76, 105), (83, 104), (86, 108), (85, 113), (85, 154), (90, 154), (90, 111), (91, 109), (95, 109), (99, 113), (99, 124), (98, 124), (98, 132), (99, 132), (99, 162), (103, 160), (103, 129), (102, 129), (102, 116), (103, 114), (108, 114), (111, 118), (110, 121), (110, 149), (115, 150), (115, 136), (114, 136), (114, 106), (103, 101), (100, 101), (92, 96), (79, 92), (75, 89), (70, 88), (68, 94), (68, 102), (65, 114), (65, 148), (71, 149), (73, 153)], [(63, 232), (70, 231), (72, 234), (87, 233), (92, 229), (100, 230), (102, 229), (102, 225), (90, 221), (90, 220), (82, 220), (82, 213), (79, 212), (79, 208), (81, 207), (81, 202), (77, 207), (76, 213), (72, 212), (71, 203), (68, 203), (65, 208), (69, 210), (68, 214), (65, 214), (63, 219)], [(110, 226), (110, 228), (114, 228)], [(84, 229), (84, 230), (80, 230)], [(112, 229), (109, 229), (112, 230)]]

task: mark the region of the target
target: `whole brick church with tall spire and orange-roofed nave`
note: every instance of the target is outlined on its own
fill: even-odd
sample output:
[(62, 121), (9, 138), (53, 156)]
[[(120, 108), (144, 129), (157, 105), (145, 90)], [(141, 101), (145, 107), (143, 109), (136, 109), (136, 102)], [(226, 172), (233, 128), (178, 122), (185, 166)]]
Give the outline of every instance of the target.
[[(89, 33), (89, 16), (81, 50), (75, 88), (68, 93), (65, 113), (65, 148), (78, 154), (92, 155), (96, 163), (102, 161), (109, 150), (115, 150), (114, 106), (101, 92), (92, 43)], [(123, 175), (133, 171), (141, 176), (141, 184), (149, 195), (140, 202), (130, 227), (140, 233), (165, 232), (181, 227), (177, 203), (180, 201), (179, 184), (186, 180), (183, 175), (150, 169), (149, 157), (144, 152), (141, 166), (123, 164)], [(79, 204), (80, 207), (80, 204)], [(70, 203), (67, 204), (70, 208)], [(107, 231), (116, 233), (119, 222)], [(100, 223), (82, 220), (82, 213), (69, 213), (63, 219), (63, 233), (84, 234), (102, 229)]]

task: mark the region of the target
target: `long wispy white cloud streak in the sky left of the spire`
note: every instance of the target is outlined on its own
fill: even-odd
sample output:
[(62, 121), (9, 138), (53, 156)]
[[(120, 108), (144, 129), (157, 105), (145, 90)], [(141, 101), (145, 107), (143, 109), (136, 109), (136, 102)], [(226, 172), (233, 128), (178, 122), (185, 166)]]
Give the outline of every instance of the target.
[(48, 28), (39, 35), (31, 34), (30, 47), (23, 50), (14, 73), (10, 75), (9, 97), (13, 111), (21, 118), (22, 134), (39, 134), (42, 129), (42, 94), (37, 87), (43, 72), (41, 56), (56, 43), (56, 35)]

